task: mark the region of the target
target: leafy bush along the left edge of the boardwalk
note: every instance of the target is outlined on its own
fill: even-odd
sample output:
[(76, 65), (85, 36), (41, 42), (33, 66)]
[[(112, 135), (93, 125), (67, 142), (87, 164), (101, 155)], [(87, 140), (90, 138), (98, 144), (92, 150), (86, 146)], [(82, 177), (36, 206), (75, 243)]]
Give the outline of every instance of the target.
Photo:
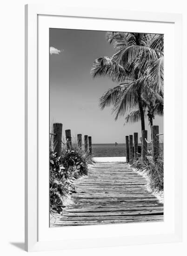
[(53, 147), (50, 147), (50, 214), (60, 214), (64, 200), (68, 195), (76, 193), (73, 180), (87, 175), (88, 164), (92, 157), (74, 143), (70, 149), (62, 148), (61, 155), (57, 156)]

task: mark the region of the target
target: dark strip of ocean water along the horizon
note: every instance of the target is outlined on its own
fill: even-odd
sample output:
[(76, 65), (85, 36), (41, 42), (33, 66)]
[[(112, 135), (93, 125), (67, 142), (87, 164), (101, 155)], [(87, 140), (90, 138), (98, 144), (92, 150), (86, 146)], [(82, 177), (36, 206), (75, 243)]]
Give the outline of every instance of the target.
[[(141, 144), (138, 144), (141, 146)], [(152, 144), (147, 144), (147, 149), (151, 149)], [(160, 143), (163, 150), (163, 143)], [(93, 157), (126, 156), (126, 144), (92, 144)]]

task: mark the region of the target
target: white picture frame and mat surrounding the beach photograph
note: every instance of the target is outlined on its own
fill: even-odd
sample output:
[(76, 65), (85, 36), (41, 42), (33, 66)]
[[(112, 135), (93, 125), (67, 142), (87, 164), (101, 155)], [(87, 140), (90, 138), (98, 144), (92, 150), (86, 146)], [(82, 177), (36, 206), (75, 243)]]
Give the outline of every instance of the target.
[[(48, 18), (47, 18), (48, 17)], [(69, 20), (69, 25), (63, 25), (63, 19)], [(76, 26), (75, 26), (75, 20)], [(78, 22), (79, 20), (79, 22)], [(82, 20), (82, 21), (81, 21)], [(84, 20), (89, 20), (87, 25)], [(146, 244), (146, 243), (170, 243), (181, 241), (182, 236), (182, 161), (177, 161), (182, 155), (182, 142), (178, 135), (181, 134), (182, 129), (182, 116), (176, 115), (181, 113), (182, 109), (182, 46), (181, 46), (181, 27), (182, 17), (180, 14), (169, 13), (145, 13), (145, 12), (129, 12), (123, 9), (100, 9), (100, 8), (72, 8), (72, 7), (55, 7), (46, 5), (26, 5), (25, 7), (25, 111), (26, 111), (26, 143), (25, 143), (25, 249), (27, 251), (39, 251), (39, 250), (54, 250), (54, 249), (75, 249), (75, 248), (90, 248), (90, 247), (104, 247), (104, 246), (123, 246), (130, 244)], [(100, 23), (99, 23), (99, 22)], [(102, 22), (101, 22), (102, 21)], [(82, 23), (81, 23), (82, 22)], [(42, 160), (47, 159), (47, 155), (40, 154), (43, 152), (43, 148), (47, 148), (48, 142), (45, 142), (46, 136), (48, 136), (48, 115), (45, 111), (45, 107), (48, 106), (48, 93), (47, 86), (47, 70), (48, 70), (48, 55), (45, 58), (45, 54), (48, 51), (48, 45), (46, 43), (47, 31), (49, 27), (61, 28), (77, 28), (77, 29), (97, 29), (97, 26), (103, 26), (104, 30), (110, 30), (114, 26), (123, 25), (122, 22), (126, 22), (127, 27), (133, 29), (133, 24), (141, 23), (143, 30), (154, 33), (159, 31), (165, 31), (168, 34), (168, 39), (174, 38), (173, 48), (167, 52), (168, 67), (165, 65), (166, 81), (173, 84), (171, 86), (171, 97), (167, 99), (167, 106), (172, 102), (172, 115), (168, 116), (167, 123), (164, 124), (164, 129), (167, 129), (166, 140), (172, 136), (174, 147), (172, 151), (170, 147), (164, 151), (166, 155), (165, 169), (167, 168), (166, 177), (171, 176), (170, 182), (168, 179), (164, 179), (166, 183), (167, 197), (165, 198), (166, 207), (166, 224), (159, 226), (159, 223), (150, 223), (144, 226), (145, 232), (143, 232), (140, 224), (128, 224), (127, 230), (123, 236), (123, 226), (106, 225), (105, 228), (101, 226), (86, 227), (86, 229), (79, 229), (79, 237), (75, 235), (62, 237), (60, 235), (61, 229), (50, 229), (47, 223), (46, 207), (48, 205), (48, 195), (42, 191), (47, 191), (48, 176), (44, 173), (47, 167), (47, 162), (43, 163)], [(83, 24), (84, 23), (84, 24)], [(98, 23), (98, 24), (97, 24)], [(102, 24), (101, 24), (102, 23)], [(71, 24), (71, 25), (70, 25)], [(83, 24), (83, 25), (81, 25)], [(108, 25), (107, 25), (108, 24)], [(157, 26), (157, 25), (158, 26)], [(101, 26), (101, 27), (102, 27)], [(157, 28), (158, 27), (158, 28)], [(170, 27), (171, 29), (167, 28)], [(135, 29), (135, 28), (134, 28)], [(154, 29), (152, 31), (151, 29)], [(158, 29), (158, 30), (157, 30)], [(164, 30), (165, 29), (165, 30)], [(168, 31), (167, 31), (168, 30)], [(163, 33), (165, 33), (163, 32)], [(173, 34), (172, 34), (173, 33)], [(167, 37), (166, 37), (167, 38)], [(168, 42), (168, 40), (166, 40)], [(42, 45), (42, 47), (41, 47)], [(166, 47), (165, 47), (166, 48)], [(174, 52), (173, 52), (174, 50)], [(173, 56), (171, 56), (171, 52)], [(45, 61), (44, 61), (45, 58)], [(170, 64), (173, 65), (169, 69)], [(167, 70), (168, 68), (168, 70)], [(172, 73), (169, 76), (169, 70)], [(168, 79), (167, 79), (168, 78)], [(174, 78), (174, 79), (173, 79)], [(40, 85), (40, 86), (39, 86)], [(169, 88), (167, 87), (169, 90)], [(41, 94), (42, 93), (42, 94)], [(42, 96), (41, 96), (42, 95)], [(166, 94), (165, 94), (166, 95)], [(167, 98), (167, 96), (165, 96)], [(169, 98), (169, 97), (168, 97)], [(42, 104), (41, 104), (42, 102)], [(42, 115), (44, 114), (46, 115)], [(43, 117), (42, 117), (43, 116)], [(47, 125), (47, 128), (45, 128)], [(171, 127), (172, 126), (172, 127)], [(171, 128), (171, 129), (170, 129)], [(45, 131), (44, 131), (45, 129)], [(42, 135), (41, 135), (41, 132)], [(166, 145), (166, 144), (165, 144)], [(169, 144), (168, 144), (169, 145)], [(43, 148), (42, 148), (43, 147)], [(167, 145), (166, 145), (167, 148)], [(170, 149), (169, 149), (170, 148)], [(48, 149), (47, 149), (48, 150)], [(47, 154), (47, 150), (45, 151)], [(171, 154), (172, 157), (171, 157)], [(172, 162), (170, 161), (172, 158)], [(40, 161), (39, 161), (40, 159)], [(42, 162), (42, 165), (41, 165)], [(39, 171), (40, 170), (40, 171)], [(169, 172), (171, 170), (171, 172)], [(41, 175), (46, 175), (44, 179), (40, 179)], [(43, 176), (42, 176), (43, 177)], [(167, 186), (167, 183), (168, 184)], [(171, 192), (173, 194), (171, 194)], [(170, 197), (170, 200), (168, 199)], [(42, 198), (42, 199), (41, 199)], [(168, 199), (168, 206), (167, 200)], [(168, 222), (167, 222), (168, 217)], [(126, 224), (121, 224), (126, 225)], [(131, 225), (131, 226), (129, 226)], [(137, 226), (139, 225), (139, 226)], [(157, 229), (156, 227), (157, 226)], [(171, 229), (170, 229), (170, 228)], [(137, 229), (138, 228), (138, 229)], [(65, 229), (65, 228), (63, 228)], [(68, 229), (68, 228), (66, 228)], [(77, 229), (78, 228), (72, 228)], [(112, 234), (107, 236), (109, 229), (112, 230)], [(128, 229), (132, 229), (133, 232), (127, 232)], [(81, 234), (86, 230), (87, 236), (81, 237)], [(90, 230), (93, 236), (89, 236)], [(117, 230), (119, 230), (117, 234)], [(137, 230), (137, 232), (135, 232)], [(154, 232), (153, 232), (154, 230)], [(160, 230), (160, 233), (159, 233)], [(161, 231), (162, 230), (162, 231)], [(50, 232), (49, 232), (50, 231)], [(47, 233), (48, 232), (48, 233)], [(56, 235), (55, 235), (56, 233)], [(100, 236), (95, 234), (100, 233)], [(138, 235), (134, 235), (137, 233)], [(46, 236), (45, 236), (46, 235)], [(56, 239), (56, 237), (60, 238)]]

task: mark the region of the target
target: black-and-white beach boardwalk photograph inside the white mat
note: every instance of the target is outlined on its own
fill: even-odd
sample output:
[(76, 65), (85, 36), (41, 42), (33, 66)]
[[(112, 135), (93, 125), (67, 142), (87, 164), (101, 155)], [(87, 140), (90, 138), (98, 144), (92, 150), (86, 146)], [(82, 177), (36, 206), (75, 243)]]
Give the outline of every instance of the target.
[(50, 28), (49, 95), (49, 226), (163, 222), (164, 35)]

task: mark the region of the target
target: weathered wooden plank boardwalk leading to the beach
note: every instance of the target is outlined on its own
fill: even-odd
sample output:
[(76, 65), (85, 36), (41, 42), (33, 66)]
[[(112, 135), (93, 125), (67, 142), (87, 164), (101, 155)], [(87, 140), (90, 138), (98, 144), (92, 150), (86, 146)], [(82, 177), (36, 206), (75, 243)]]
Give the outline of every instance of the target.
[(73, 204), (54, 226), (163, 221), (163, 204), (126, 163), (98, 162), (74, 184)]

